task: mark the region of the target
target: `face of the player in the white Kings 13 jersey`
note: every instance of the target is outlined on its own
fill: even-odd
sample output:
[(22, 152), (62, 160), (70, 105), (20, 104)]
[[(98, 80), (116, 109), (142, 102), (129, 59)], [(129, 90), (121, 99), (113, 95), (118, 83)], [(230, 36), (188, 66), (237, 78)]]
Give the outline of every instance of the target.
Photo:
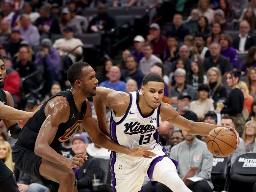
[(149, 81), (141, 87), (145, 101), (152, 109), (158, 108), (164, 97), (164, 83)]

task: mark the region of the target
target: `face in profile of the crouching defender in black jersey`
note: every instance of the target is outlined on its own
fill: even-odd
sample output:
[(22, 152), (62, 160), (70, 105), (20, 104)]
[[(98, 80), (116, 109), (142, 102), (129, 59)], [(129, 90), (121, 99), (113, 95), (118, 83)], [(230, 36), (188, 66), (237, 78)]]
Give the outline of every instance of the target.
[(98, 86), (98, 80), (95, 77), (95, 71), (92, 67), (87, 67), (83, 69), (83, 78), (81, 81), (82, 92), (86, 96), (95, 96), (96, 87)]

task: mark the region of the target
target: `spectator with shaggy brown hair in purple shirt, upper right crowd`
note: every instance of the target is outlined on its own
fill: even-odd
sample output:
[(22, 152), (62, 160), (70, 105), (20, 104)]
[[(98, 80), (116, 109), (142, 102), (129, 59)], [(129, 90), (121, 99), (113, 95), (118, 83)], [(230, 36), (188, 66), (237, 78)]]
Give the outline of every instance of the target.
[(230, 63), (233, 64), (233, 68), (238, 68), (238, 59), (236, 50), (231, 47), (232, 39), (228, 34), (220, 35), (220, 54), (227, 57)]

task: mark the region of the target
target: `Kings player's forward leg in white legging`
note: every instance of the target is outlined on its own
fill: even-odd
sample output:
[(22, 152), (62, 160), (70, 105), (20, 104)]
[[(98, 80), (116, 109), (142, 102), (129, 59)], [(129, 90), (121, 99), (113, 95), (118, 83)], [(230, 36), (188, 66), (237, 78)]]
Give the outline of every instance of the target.
[(176, 167), (169, 157), (157, 162), (152, 174), (152, 180), (163, 183), (173, 192), (192, 192), (180, 179)]

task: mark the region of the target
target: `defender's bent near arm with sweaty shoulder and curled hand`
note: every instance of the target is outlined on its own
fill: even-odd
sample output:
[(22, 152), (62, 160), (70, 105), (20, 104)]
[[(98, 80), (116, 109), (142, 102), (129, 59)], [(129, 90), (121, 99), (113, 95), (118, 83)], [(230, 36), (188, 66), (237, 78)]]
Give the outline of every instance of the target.
[(68, 121), (70, 107), (67, 99), (61, 96), (55, 97), (46, 104), (44, 113), (46, 119), (36, 138), (35, 154), (50, 162), (64, 165), (68, 168), (75, 167), (79, 169), (77, 164), (82, 166), (84, 159), (86, 160), (87, 156), (80, 154), (74, 156), (72, 159), (68, 159), (50, 147), (50, 144), (58, 130), (59, 124), (66, 123)]

